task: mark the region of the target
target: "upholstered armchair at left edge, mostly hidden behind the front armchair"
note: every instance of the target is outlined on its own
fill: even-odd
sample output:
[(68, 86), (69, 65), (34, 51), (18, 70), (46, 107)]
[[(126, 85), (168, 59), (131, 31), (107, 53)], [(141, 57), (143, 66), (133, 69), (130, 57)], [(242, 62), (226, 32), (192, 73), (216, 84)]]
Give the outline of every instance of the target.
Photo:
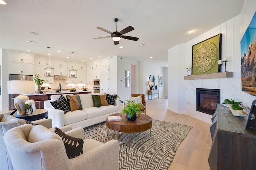
[[(33, 123), (38, 125), (43, 125), (44, 127), (48, 128), (50, 131), (54, 131), (55, 128), (52, 128), (52, 119), (42, 119), (33, 121)], [(26, 124), (24, 119), (17, 119), (12, 115), (4, 115), (0, 114), (0, 170), (13, 170), (12, 162), (8, 156), (8, 152), (6, 151), (6, 146), (4, 143), (4, 134), (20, 125)], [(70, 131), (72, 129), (71, 126), (66, 126), (62, 129), (62, 131)]]

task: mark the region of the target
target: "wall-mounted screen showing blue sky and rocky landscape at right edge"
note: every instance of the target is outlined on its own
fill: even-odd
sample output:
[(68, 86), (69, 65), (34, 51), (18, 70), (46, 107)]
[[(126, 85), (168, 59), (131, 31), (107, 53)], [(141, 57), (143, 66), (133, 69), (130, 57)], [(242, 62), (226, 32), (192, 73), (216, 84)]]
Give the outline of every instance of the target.
[(256, 13), (241, 40), (242, 91), (256, 96)]

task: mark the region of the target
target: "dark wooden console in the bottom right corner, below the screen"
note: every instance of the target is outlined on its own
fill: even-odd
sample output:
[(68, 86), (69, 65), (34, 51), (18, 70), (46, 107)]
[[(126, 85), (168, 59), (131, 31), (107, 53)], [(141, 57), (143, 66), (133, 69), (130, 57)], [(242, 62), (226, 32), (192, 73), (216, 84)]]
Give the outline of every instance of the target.
[(218, 104), (210, 127), (211, 170), (255, 169), (256, 129), (244, 129), (247, 117), (236, 117), (228, 107)]

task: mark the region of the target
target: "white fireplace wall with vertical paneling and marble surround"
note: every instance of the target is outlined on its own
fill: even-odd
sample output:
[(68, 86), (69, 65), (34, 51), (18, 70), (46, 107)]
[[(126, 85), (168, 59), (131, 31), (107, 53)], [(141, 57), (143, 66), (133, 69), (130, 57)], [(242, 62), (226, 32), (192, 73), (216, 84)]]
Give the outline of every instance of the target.
[[(185, 112), (192, 117), (211, 123), (211, 115), (196, 111), (196, 88), (220, 89), (221, 102), (226, 98), (232, 98), (237, 101), (242, 101), (244, 106), (250, 107), (252, 100), (255, 100), (256, 97), (241, 91), (240, 41), (255, 11), (256, 1), (245, 1), (240, 15), (212, 28), (187, 43), (176, 45), (172, 49), (168, 50), (168, 109), (172, 111), (176, 110), (177, 113)], [(182, 75), (174, 74), (174, 72), (184, 72), (184, 70), (186, 70), (186, 65), (191, 66), (193, 45), (219, 33), (222, 33), (221, 56), (222, 59), (223, 57), (228, 57), (227, 71), (234, 72), (233, 78), (184, 81), (180, 79), (183, 78)], [(186, 52), (183, 54), (180, 51)], [(186, 64), (180, 63), (179, 61), (172, 63), (175, 55), (184, 59), (183, 63)], [(222, 71), (223, 70), (224, 64), (222, 64)], [(171, 80), (174, 81), (172, 82)], [(183, 82), (186, 84), (185, 88), (182, 86), (184, 84)], [(184, 91), (186, 92), (184, 93)], [(183, 101), (186, 101), (186, 104), (184, 104)]]

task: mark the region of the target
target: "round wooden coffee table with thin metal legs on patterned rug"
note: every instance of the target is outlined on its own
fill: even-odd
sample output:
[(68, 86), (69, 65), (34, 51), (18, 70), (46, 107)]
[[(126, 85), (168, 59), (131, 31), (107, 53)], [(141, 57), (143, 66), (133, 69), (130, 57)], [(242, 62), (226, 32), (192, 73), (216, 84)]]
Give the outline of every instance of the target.
[[(148, 115), (141, 114), (135, 121), (128, 121), (124, 114), (115, 113), (110, 116), (120, 116), (122, 121), (108, 121), (106, 118), (106, 126), (108, 127), (108, 136), (110, 137), (109, 129), (112, 131), (116, 131), (118, 133), (128, 133), (128, 145), (132, 144), (130, 142), (130, 133), (140, 133), (147, 130), (150, 130), (148, 137), (142, 141), (146, 141), (151, 136), (151, 127), (152, 127), (152, 119)], [(111, 137), (110, 137), (111, 138)], [(112, 139), (112, 138), (111, 138)], [(133, 142), (133, 143), (138, 143)], [(127, 142), (119, 142), (119, 143), (127, 143)]]

